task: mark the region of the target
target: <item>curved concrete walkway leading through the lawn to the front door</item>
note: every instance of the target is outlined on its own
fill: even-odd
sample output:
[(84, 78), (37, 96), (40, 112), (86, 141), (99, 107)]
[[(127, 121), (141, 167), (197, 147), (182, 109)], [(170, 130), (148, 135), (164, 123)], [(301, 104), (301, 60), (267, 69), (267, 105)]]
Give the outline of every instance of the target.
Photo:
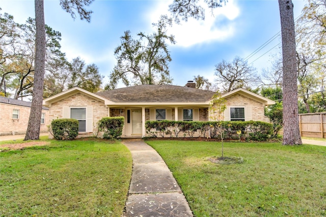
[(141, 139), (122, 140), (122, 143), (130, 150), (133, 160), (125, 216), (193, 216), (160, 155)]

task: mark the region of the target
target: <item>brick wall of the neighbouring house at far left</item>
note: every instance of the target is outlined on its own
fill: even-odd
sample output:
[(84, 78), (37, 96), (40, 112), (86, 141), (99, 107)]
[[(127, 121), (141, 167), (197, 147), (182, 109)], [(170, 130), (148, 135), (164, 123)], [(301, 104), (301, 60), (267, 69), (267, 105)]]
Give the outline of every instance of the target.
[[(13, 119), (13, 110), (19, 110), (19, 119)], [(0, 103), (0, 135), (24, 134), (26, 133), (31, 108), (21, 105), (12, 105)], [(41, 124), (40, 132), (47, 132), (49, 122), (49, 111), (42, 110), (45, 113), (45, 123)]]

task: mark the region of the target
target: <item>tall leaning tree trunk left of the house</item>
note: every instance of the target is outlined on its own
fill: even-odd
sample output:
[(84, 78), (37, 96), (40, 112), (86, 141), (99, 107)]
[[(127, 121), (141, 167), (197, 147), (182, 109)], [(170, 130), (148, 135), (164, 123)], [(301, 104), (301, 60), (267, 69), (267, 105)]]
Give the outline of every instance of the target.
[(24, 140), (40, 139), (46, 43), (43, 0), (35, 0), (35, 23), (36, 50), (33, 99), (30, 119)]

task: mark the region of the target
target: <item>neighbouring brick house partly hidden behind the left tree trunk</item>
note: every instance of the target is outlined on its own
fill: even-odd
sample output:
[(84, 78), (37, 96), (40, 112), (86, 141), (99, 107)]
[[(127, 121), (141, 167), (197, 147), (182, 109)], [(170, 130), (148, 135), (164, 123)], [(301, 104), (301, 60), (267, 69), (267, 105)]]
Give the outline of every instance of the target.
[[(0, 96), (0, 135), (24, 134), (31, 113), (31, 102)], [(49, 109), (42, 108), (40, 132), (47, 132)]]

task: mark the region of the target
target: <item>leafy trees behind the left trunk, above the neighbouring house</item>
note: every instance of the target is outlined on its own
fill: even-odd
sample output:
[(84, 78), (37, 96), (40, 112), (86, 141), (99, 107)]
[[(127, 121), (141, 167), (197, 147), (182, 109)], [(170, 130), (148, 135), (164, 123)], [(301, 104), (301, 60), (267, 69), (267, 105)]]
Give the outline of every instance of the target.
[[(32, 96), (35, 71), (35, 19), (24, 24), (13, 21), (13, 16), (0, 14), (0, 91), (7, 97)], [(72, 87), (90, 92), (100, 90), (103, 76), (95, 64), (86, 65), (75, 58), (68, 62), (61, 52), (61, 33), (45, 25), (46, 53), (43, 97), (49, 97)]]

